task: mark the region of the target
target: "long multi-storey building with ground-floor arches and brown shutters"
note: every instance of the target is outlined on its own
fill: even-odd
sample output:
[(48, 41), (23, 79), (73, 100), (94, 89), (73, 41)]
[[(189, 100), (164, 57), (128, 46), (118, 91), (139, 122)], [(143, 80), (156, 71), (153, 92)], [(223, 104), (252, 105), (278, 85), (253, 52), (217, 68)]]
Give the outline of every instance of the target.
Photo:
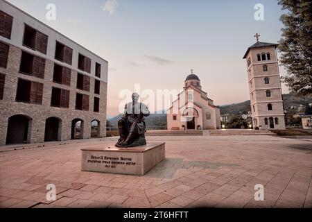
[(105, 137), (107, 61), (0, 0), (0, 145)]

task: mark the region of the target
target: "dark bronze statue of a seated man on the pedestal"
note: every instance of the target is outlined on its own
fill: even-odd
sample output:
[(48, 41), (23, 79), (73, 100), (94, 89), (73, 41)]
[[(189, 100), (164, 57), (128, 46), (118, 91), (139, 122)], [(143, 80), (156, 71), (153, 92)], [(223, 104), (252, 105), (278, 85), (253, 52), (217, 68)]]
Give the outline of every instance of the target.
[(134, 147), (146, 145), (146, 123), (144, 117), (150, 115), (148, 107), (139, 103), (139, 94), (132, 94), (132, 102), (125, 105), (123, 117), (118, 121), (120, 138), (115, 146)]

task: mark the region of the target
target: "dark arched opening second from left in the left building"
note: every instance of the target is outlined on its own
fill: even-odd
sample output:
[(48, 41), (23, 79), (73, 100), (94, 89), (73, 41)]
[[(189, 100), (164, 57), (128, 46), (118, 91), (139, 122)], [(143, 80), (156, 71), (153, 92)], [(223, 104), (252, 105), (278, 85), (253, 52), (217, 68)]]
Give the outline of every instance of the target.
[(46, 119), (46, 127), (44, 130), (44, 142), (60, 141), (60, 132), (62, 121), (56, 117)]

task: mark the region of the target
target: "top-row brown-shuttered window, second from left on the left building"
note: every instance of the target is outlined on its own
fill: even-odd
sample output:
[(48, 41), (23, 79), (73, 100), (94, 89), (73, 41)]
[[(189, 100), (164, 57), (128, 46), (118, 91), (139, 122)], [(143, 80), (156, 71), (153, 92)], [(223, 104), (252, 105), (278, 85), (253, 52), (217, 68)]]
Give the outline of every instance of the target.
[(48, 35), (45, 35), (44, 33), (35, 30), (35, 28), (25, 24), (23, 44), (33, 50), (46, 54)]

